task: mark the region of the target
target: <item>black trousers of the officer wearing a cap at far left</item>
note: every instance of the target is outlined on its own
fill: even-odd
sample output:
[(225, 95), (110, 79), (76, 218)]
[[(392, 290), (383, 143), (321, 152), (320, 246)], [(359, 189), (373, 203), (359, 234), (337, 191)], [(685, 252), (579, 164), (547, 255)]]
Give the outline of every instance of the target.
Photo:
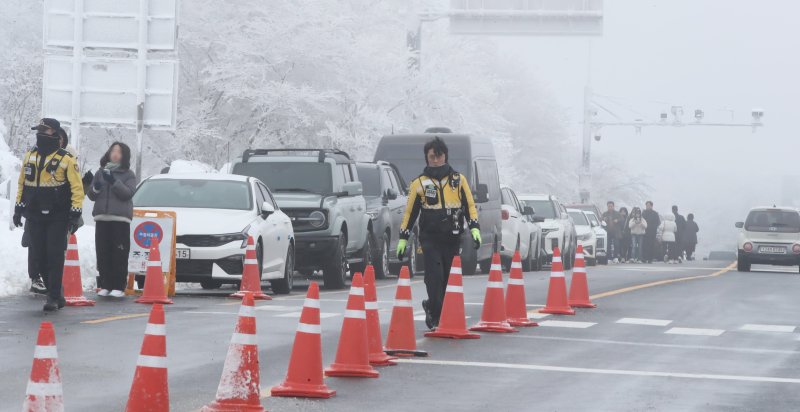
[[(47, 295), (61, 299), (61, 278), (64, 275), (64, 254), (67, 250), (66, 219), (34, 219), (28, 222), (31, 249), (42, 279), (47, 282)], [(29, 270), (30, 273), (30, 270)]]

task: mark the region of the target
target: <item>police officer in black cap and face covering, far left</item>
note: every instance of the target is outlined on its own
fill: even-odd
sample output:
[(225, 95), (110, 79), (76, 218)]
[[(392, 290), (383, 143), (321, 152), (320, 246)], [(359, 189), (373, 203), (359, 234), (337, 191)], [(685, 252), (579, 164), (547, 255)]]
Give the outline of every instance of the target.
[(75, 157), (62, 149), (55, 119), (42, 119), (36, 130), (36, 147), (25, 154), (20, 170), (14, 225), (28, 222), (31, 247), (39, 271), (47, 279), (45, 311), (64, 307), (61, 276), (67, 237), (78, 228), (83, 206), (83, 183)]

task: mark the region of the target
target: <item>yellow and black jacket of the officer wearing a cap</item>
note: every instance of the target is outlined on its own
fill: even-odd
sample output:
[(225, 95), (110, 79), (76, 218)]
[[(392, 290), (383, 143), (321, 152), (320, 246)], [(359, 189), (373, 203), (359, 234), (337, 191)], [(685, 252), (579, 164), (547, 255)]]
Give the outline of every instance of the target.
[(16, 206), (28, 218), (66, 217), (83, 207), (83, 182), (75, 156), (63, 149), (42, 156), (25, 155), (19, 174)]

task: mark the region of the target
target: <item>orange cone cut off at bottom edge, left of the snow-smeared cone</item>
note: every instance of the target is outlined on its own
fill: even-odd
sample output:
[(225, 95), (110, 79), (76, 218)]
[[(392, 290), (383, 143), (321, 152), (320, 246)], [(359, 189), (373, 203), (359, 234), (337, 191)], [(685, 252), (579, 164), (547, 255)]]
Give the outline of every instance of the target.
[(167, 327), (164, 306), (160, 303), (150, 309), (150, 319), (144, 329), (144, 341), (136, 373), (128, 396), (126, 412), (169, 411), (169, 385), (167, 384)]

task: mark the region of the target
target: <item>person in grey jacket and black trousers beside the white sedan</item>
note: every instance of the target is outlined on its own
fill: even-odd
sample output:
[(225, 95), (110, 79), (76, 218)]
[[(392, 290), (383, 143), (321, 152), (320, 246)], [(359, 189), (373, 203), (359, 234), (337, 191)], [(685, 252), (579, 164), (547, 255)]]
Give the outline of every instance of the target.
[(128, 254), (131, 249), (131, 219), (136, 174), (131, 168), (131, 149), (115, 142), (100, 159), (89, 199), (94, 201), (95, 250), (99, 296), (125, 296)]

